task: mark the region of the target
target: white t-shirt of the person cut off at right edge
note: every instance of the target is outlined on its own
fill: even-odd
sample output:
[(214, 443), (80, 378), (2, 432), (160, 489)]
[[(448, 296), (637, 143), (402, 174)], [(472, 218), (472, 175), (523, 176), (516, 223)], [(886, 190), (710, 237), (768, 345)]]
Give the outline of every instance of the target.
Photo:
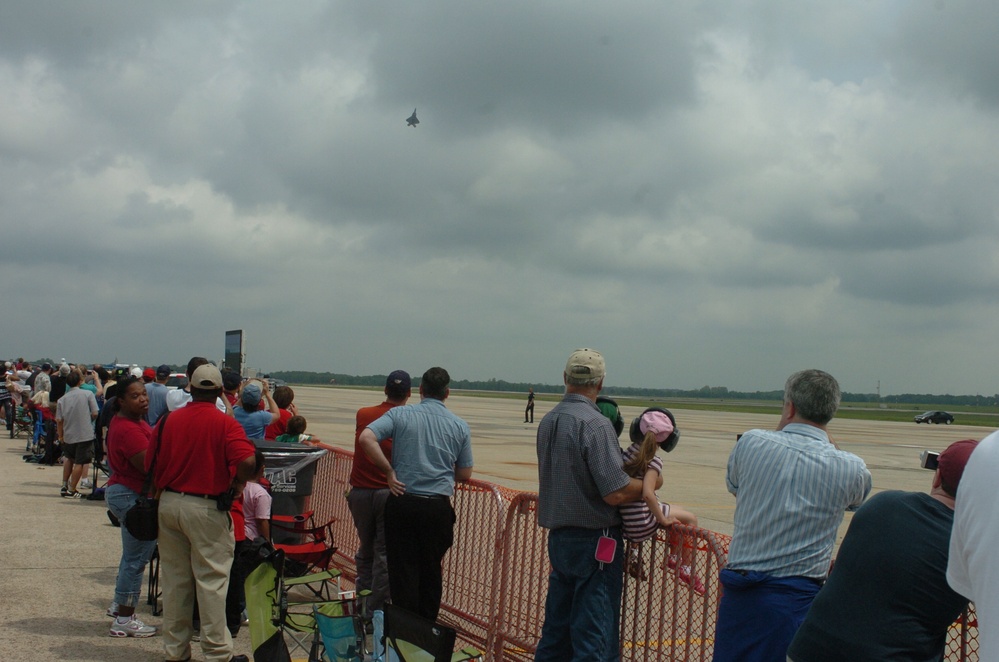
[(950, 534), (947, 583), (975, 603), (978, 658), (999, 660), (999, 432), (985, 437), (964, 467)]

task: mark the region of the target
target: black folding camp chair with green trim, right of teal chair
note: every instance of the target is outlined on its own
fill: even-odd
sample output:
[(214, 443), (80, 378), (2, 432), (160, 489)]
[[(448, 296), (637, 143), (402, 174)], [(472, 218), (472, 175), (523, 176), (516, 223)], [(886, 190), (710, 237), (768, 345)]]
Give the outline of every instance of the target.
[(385, 605), (385, 656), (399, 662), (462, 662), (482, 660), (482, 651), (468, 646), (454, 650), (458, 633), (440, 623), (393, 604)]

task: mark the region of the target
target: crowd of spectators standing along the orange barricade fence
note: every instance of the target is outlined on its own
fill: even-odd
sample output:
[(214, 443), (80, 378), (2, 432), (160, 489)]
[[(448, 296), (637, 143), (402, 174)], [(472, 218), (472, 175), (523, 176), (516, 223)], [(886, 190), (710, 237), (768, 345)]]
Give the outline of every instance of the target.
[[(19, 410), (36, 417), (42, 432), (29, 456), (61, 462), (63, 497), (94, 489), (87, 468), (105, 455), (103, 498), (113, 521), (155, 493), (168, 662), (190, 659), (199, 640), (205, 659), (240, 662), (247, 659), (233, 650), (245, 619), (240, 552), (269, 537), (271, 514), (264, 455), (251, 442), (318, 440), (305, 433), (290, 387), (272, 394), (267, 379), (244, 380), (203, 357), (188, 363), (183, 388), (166, 386), (171, 372), (166, 364), (108, 371), (8, 361), (0, 407), (8, 429)], [(619, 659), (622, 575), (644, 579), (642, 568), (626, 566), (624, 542), (633, 550), (658, 528), (697, 525), (656, 496), (656, 450), (673, 450), (679, 438), (672, 413), (643, 412), (622, 453), (620, 412), (600, 396), (605, 374), (599, 352), (573, 352), (565, 396), (537, 432), (538, 521), (548, 529), (551, 564), (538, 660)], [(357, 588), (371, 591), (375, 608), (393, 602), (429, 620), (437, 617), (442, 560), (453, 543), (450, 497), (472, 473), (470, 428), (445, 406), (449, 383), (446, 370), (431, 368), (420, 403), (408, 405), (409, 374), (389, 375), (385, 401), (357, 412), (346, 495), (360, 539)], [(720, 575), (714, 660), (942, 659), (947, 628), (969, 598), (980, 659), (997, 659), (999, 526), (990, 488), (999, 433), (981, 444), (951, 444), (927, 465), (934, 470), (928, 493), (868, 499), (863, 459), (829, 435), (839, 401), (831, 375), (796, 372), (785, 383), (776, 429), (749, 430), (731, 451), (725, 480), (736, 500), (735, 530)], [(846, 511), (856, 515), (834, 565)], [(157, 542), (124, 526), (121, 539), (109, 634), (152, 636), (160, 629), (139, 620), (135, 607)], [(689, 552), (670, 546), (678, 581), (703, 595)]]

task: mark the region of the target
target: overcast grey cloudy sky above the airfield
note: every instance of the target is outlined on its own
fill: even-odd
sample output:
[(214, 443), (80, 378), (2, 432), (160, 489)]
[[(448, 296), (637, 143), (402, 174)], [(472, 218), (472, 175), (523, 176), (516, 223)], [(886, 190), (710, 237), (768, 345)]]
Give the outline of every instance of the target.
[[(0, 4), (8, 356), (999, 391), (999, 3)], [(416, 107), (419, 127), (406, 126)]]

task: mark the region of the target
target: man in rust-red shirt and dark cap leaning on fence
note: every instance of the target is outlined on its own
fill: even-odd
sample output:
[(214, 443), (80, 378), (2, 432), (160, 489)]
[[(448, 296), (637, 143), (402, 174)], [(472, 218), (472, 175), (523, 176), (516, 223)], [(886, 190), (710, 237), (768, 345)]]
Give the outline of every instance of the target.
[[(385, 380), (385, 402), (374, 407), (357, 410), (357, 428), (354, 432), (354, 465), (350, 470), (350, 494), (347, 504), (357, 527), (357, 537), (361, 544), (354, 555), (357, 566), (358, 591), (370, 589), (368, 607), (382, 609), (389, 598), (388, 561), (385, 556), (385, 501), (388, 499), (388, 484), (385, 474), (368, 459), (367, 454), (357, 445), (361, 431), (382, 414), (393, 407), (406, 404), (409, 400), (412, 381), (405, 370), (396, 370)], [(392, 457), (392, 439), (381, 443), (385, 457)]]

